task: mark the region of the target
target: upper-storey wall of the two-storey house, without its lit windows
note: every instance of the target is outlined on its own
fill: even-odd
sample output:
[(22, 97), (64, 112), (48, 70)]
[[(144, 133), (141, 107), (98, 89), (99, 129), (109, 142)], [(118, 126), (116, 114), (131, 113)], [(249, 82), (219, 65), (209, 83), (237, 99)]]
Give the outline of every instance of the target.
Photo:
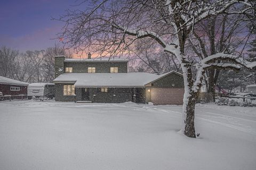
[(110, 67), (118, 67), (119, 73), (127, 73), (127, 62), (64, 62), (64, 69), (73, 67), (73, 73), (87, 73), (88, 67), (95, 67), (96, 73), (110, 73)]

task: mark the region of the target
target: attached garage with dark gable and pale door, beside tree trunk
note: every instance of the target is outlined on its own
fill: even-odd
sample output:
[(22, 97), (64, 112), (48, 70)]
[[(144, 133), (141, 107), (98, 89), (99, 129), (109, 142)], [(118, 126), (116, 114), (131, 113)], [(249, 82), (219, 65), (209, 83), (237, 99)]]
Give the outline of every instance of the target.
[(182, 105), (184, 95), (183, 76), (169, 72), (146, 84), (147, 101), (154, 105)]

